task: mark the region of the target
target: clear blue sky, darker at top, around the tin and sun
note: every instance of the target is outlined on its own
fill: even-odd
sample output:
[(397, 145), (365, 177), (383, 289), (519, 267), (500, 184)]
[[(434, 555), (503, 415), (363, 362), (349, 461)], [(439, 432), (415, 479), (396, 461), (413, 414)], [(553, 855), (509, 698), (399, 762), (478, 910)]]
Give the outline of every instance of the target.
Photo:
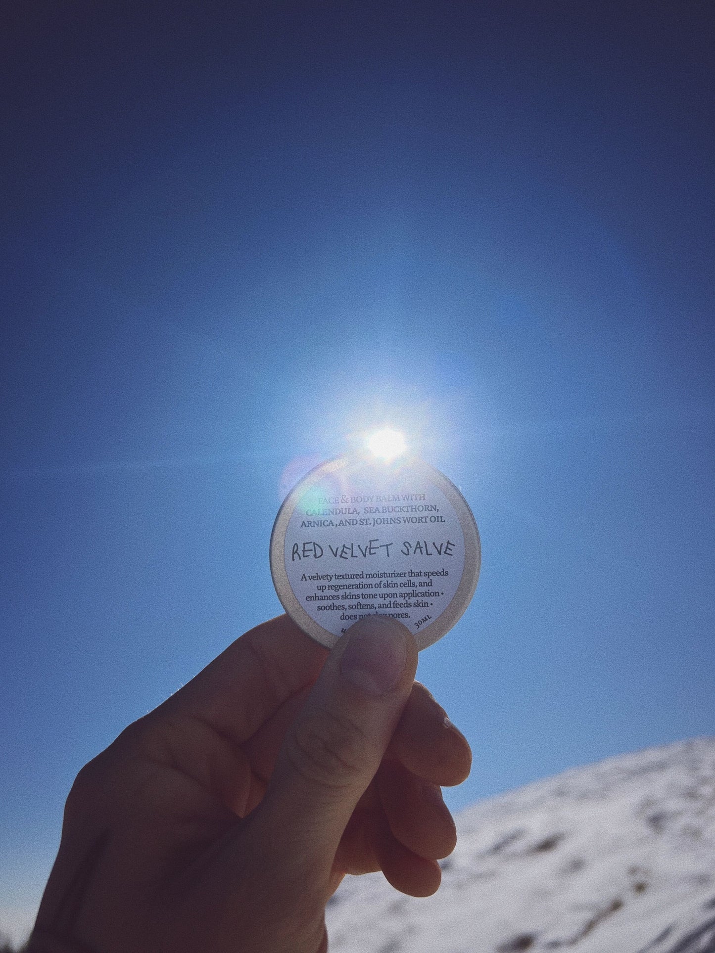
[(50, 8), (0, 41), (0, 929), (373, 423), (480, 526), (453, 807), (715, 733), (712, 7)]

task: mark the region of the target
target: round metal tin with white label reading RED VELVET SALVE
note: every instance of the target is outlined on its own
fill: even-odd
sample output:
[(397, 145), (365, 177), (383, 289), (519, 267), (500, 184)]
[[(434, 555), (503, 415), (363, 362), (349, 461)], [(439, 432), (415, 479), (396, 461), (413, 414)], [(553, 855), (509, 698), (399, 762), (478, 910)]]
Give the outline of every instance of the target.
[[(480, 561), (474, 518), (439, 471), (416, 460), (347, 457), (296, 486), (276, 519), (271, 555), (279, 598), (323, 644), (358, 618), (380, 615), (399, 619), (420, 648), (460, 617)], [(284, 572), (276, 572), (280, 562)], [(453, 605), (458, 591), (463, 605)]]

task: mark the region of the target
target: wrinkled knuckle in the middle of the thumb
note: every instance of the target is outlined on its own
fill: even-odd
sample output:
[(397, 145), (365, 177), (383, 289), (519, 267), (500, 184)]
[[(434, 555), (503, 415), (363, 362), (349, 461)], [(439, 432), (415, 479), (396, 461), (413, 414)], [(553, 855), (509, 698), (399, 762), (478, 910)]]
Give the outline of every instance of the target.
[(367, 742), (353, 720), (324, 709), (296, 726), (288, 755), (299, 774), (323, 787), (349, 787), (361, 773)]

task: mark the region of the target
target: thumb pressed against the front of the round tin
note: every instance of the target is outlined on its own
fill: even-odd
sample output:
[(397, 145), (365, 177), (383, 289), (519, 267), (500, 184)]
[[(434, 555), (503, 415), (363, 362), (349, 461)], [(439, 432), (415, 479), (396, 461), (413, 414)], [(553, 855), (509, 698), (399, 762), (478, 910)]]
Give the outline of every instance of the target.
[(409, 698), (417, 658), (411, 633), (387, 616), (361, 618), (338, 639), (255, 812), (270, 853), (294, 870), (330, 868)]

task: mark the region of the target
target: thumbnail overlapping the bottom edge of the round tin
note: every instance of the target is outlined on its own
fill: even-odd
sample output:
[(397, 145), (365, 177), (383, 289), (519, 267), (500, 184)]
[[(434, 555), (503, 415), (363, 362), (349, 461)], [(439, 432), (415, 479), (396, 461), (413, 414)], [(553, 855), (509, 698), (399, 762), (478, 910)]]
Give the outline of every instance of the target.
[(340, 658), (343, 676), (371, 695), (395, 688), (407, 656), (407, 629), (389, 616), (365, 616), (345, 633)]

